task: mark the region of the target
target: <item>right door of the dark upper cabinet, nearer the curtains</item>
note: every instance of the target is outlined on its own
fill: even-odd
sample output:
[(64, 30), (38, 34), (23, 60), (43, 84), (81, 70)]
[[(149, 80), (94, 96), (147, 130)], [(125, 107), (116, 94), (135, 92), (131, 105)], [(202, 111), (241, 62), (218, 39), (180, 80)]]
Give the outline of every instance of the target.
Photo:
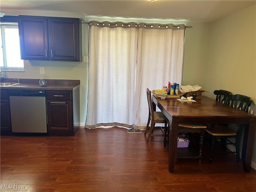
[(76, 18), (48, 19), (50, 60), (80, 61), (80, 25)]

